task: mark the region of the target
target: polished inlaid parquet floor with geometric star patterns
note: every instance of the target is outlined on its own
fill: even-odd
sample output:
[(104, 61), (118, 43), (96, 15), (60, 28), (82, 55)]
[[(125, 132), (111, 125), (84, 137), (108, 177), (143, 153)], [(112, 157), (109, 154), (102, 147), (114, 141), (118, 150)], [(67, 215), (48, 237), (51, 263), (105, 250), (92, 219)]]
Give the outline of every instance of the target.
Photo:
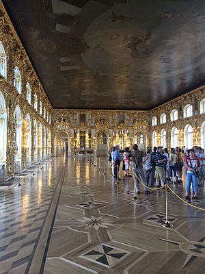
[[(133, 178), (100, 163), (59, 157), (1, 195), (0, 273), (204, 274), (205, 212), (169, 192), (166, 229), (165, 191), (133, 200)], [(205, 208), (202, 188), (190, 203)]]

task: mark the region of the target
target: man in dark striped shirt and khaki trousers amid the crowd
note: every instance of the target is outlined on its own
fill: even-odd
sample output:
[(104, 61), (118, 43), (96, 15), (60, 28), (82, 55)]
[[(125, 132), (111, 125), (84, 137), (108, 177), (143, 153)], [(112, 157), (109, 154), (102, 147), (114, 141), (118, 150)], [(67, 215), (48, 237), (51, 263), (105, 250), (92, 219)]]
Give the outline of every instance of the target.
[(157, 151), (154, 155), (154, 165), (156, 169), (156, 187), (159, 188), (159, 181), (161, 186), (165, 184), (165, 168), (167, 166), (167, 157), (162, 153), (163, 147), (157, 147)]

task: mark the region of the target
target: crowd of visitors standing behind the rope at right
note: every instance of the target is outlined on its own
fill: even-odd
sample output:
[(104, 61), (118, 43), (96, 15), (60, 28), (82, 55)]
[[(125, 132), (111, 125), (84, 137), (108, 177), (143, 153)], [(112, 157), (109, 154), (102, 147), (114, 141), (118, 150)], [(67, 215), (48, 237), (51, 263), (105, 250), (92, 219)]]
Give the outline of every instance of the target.
[[(143, 183), (143, 191), (150, 194), (146, 186), (156, 188), (164, 186), (167, 181), (171, 184), (182, 184), (182, 169), (186, 176), (186, 195), (185, 199), (197, 198), (197, 189), (204, 186), (205, 179), (205, 153), (201, 147), (180, 149), (172, 148), (170, 153), (163, 147), (148, 148), (146, 153), (139, 151), (138, 145), (133, 145), (133, 151), (128, 147), (124, 149), (123, 155), (120, 147), (111, 147), (109, 151), (109, 161), (112, 166), (113, 178), (119, 180), (120, 163), (123, 161), (122, 170), (124, 176), (131, 177), (130, 166), (132, 166), (135, 190), (139, 191), (139, 180)], [(191, 187), (192, 186), (192, 187)], [(191, 193), (192, 190), (192, 193)]]

